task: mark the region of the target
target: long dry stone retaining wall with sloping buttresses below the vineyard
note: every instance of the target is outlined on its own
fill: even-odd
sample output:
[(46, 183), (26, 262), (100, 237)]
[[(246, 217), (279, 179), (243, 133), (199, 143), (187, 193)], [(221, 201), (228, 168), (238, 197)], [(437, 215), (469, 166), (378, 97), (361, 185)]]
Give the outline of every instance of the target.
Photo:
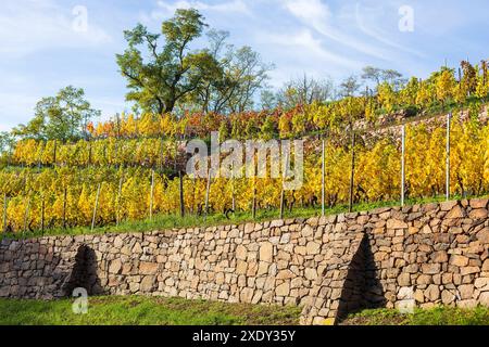
[(325, 218), (0, 244), (0, 297), (154, 295), (300, 305), (301, 323), (362, 308), (489, 306), (488, 201)]

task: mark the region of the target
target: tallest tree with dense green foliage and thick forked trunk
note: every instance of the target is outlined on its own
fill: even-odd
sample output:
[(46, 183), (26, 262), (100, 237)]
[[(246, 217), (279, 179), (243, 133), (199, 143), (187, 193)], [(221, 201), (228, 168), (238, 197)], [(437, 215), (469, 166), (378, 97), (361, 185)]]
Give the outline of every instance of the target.
[[(124, 31), (128, 48), (116, 57), (130, 90), (126, 99), (147, 112), (170, 113), (206, 79), (220, 76), (220, 65), (208, 49), (190, 49), (205, 27), (202, 15), (191, 9), (177, 10), (163, 23), (162, 35), (149, 33), (141, 24)], [(164, 43), (160, 48), (161, 36)]]

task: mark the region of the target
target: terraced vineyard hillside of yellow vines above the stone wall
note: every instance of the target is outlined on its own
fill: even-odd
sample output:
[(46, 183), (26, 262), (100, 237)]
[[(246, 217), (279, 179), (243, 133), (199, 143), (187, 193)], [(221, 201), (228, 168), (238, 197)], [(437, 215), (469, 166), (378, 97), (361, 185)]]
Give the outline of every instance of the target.
[[(487, 194), (489, 78), (485, 68), (467, 64), (462, 63), (459, 79), (454, 70), (443, 67), (426, 80), (412, 78), (400, 88), (384, 82), (376, 93), (371, 90), (288, 110), (122, 115), (98, 125), (89, 123), (84, 137), (73, 140), (29, 136), (29, 128), (21, 127), (0, 155), (2, 230), (117, 228), (155, 219), (179, 223), (176, 216), (203, 222), (210, 216), (247, 220), (277, 211), (281, 216), (302, 210), (317, 214), (323, 209), (323, 191), (324, 208), (334, 211), (346, 205), (353, 209), (362, 204), (396, 204), (401, 200), (402, 163), (408, 201), (447, 193)], [(404, 157), (402, 125), (406, 126)], [(303, 170), (296, 172), (303, 174), (302, 178), (296, 175), (300, 189), (284, 190), (289, 180), (271, 170), (258, 179), (244, 177), (242, 163), (233, 178), (209, 181), (206, 174), (185, 175), (186, 144), (203, 139), (209, 145), (212, 131), (218, 131), (221, 143), (302, 139)], [(299, 158), (297, 153), (290, 154), (293, 160)], [(221, 159), (225, 157), (221, 153)], [(186, 224), (185, 219), (181, 223)]]

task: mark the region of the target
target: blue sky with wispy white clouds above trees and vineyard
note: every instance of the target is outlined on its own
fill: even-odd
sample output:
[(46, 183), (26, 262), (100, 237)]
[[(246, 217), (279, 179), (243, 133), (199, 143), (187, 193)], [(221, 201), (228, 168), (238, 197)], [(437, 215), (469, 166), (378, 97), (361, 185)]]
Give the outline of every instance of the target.
[(273, 88), (304, 74), (340, 81), (366, 65), (424, 78), (489, 59), (487, 0), (2, 0), (0, 131), (70, 85), (102, 118), (130, 110), (115, 63), (123, 31), (142, 23), (159, 33), (179, 8), (198, 9), (230, 43), (273, 63)]

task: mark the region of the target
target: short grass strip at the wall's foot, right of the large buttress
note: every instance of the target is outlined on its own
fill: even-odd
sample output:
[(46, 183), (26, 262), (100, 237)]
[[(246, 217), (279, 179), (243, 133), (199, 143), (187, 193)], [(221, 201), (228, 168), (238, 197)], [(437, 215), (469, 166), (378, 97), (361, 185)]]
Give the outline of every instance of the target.
[(402, 314), (394, 309), (365, 310), (351, 314), (343, 325), (489, 325), (489, 308), (475, 309), (436, 307), (429, 310), (415, 309)]

